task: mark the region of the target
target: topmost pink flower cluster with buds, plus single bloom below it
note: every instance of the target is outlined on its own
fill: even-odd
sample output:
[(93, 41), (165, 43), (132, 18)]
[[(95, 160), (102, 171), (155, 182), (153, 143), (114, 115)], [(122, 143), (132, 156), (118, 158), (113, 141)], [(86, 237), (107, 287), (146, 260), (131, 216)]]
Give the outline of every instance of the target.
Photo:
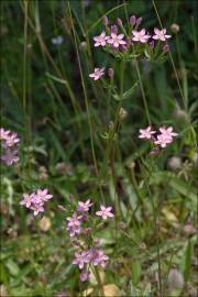
[[(142, 18), (132, 15), (129, 20), (130, 28), (122, 24), (121, 19), (117, 19), (117, 24), (109, 25), (107, 16), (103, 19), (105, 30), (94, 36), (94, 46), (102, 47), (106, 52), (114, 55), (117, 58), (132, 59), (134, 57), (147, 57), (150, 59), (161, 58), (168, 52), (169, 47), (167, 40), (172, 36), (166, 33), (166, 29), (154, 28), (153, 32), (148, 33), (145, 28), (139, 29), (142, 23)], [(119, 32), (119, 30), (121, 32)], [(158, 51), (162, 48), (162, 51)], [(95, 72), (89, 75), (94, 80), (98, 80), (103, 76), (105, 68), (95, 68)]]

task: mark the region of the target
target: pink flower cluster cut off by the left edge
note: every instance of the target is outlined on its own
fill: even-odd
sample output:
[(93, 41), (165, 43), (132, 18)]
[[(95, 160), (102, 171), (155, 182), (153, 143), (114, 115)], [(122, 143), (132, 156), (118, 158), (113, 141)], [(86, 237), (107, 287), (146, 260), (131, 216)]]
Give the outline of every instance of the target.
[(0, 141), (2, 152), (1, 161), (8, 166), (16, 163), (19, 161), (18, 145), (20, 143), (18, 134), (0, 128)]

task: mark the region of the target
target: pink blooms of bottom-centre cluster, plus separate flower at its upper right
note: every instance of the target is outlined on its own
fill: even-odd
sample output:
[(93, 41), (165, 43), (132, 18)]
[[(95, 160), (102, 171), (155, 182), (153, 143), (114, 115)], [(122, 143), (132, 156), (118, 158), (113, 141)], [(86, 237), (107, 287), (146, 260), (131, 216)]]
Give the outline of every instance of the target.
[[(90, 226), (89, 209), (91, 206), (92, 202), (90, 199), (86, 202), (78, 201), (77, 210), (74, 211), (72, 217), (66, 219), (67, 231), (72, 238), (74, 246), (77, 248), (73, 264), (79, 267), (81, 282), (89, 278), (89, 271), (91, 267), (100, 265), (105, 268), (107, 261), (109, 260), (109, 256), (107, 256), (101, 246), (99, 246), (99, 241), (94, 240), (91, 233), (92, 229), (87, 228), (87, 226)], [(100, 210), (96, 212), (96, 216), (107, 220), (114, 216), (111, 210), (111, 207), (100, 206)], [(80, 235), (82, 237), (80, 238)]]

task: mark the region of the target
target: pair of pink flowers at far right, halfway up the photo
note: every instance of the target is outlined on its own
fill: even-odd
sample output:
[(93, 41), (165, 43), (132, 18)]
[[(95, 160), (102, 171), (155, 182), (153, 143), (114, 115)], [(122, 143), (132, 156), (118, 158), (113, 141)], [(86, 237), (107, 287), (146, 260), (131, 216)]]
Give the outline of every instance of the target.
[(157, 134), (151, 127), (147, 127), (146, 129), (140, 129), (139, 139), (150, 140), (156, 147), (160, 146), (164, 148), (167, 144), (172, 143), (177, 135), (173, 127), (161, 127)]

